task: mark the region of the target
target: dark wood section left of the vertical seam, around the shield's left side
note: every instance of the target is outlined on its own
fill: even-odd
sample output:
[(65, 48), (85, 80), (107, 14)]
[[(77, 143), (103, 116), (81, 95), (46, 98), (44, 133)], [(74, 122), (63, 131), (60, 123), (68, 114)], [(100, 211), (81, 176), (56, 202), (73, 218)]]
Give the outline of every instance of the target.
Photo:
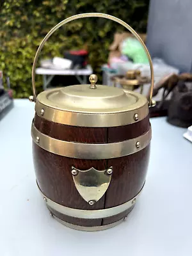
[(38, 147), (33, 142), (33, 161), (38, 186), (52, 201), (70, 208), (97, 210), (104, 209), (104, 196), (94, 205), (89, 205), (76, 189), (72, 179), (71, 167), (88, 170), (94, 166), (105, 170), (106, 160), (85, 160), (58, 156)]

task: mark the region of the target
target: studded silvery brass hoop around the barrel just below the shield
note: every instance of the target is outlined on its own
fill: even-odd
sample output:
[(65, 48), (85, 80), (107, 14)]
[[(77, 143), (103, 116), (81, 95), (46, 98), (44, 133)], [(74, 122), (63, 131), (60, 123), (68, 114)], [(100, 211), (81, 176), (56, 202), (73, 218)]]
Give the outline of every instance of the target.
[[(144, 185), (145, 183), (143, 184), (143, 187)], [(136, 200), (138, 199), (138, 196), (140, 195), (143, 187), (141, 188), (138, 195), (134, 196), (134, 198), (132, 198), (128, 202), (125, 202), (124, 204), (121, 204), (115, 207), (111, 207), (108, 209), (101, 209), (101, 210), (80, 210), (80, 209), (69, 208), (69, 207), (57, 204), (56, 202), (52, 201), (47, 196), (45, 196), (41, 190), (40, 192), (42, 193), (42, 196), (44, 196), (44, 201), (46, 202), (47, 207), (50, 209), (50, 211), (51, 209), (53, 209), (57, 212), (60, 212), (61, 214), (65, 214), (67, 216), (81, 218), (81, 219), (100, 219), (100, 218), (108, 218), (111, 216), (115, 216), (116, 214), (120, 214), (121, 212), (124, 212), (130, 207), (132, 207), (136, 203)]]

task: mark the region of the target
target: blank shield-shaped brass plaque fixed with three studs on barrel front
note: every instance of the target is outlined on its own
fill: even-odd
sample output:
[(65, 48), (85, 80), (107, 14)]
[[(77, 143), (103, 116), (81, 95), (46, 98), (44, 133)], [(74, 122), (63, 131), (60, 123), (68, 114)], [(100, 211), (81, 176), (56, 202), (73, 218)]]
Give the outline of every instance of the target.
[(76, 189), (88, 204), (95, 204), (106, 193), (111, 181), (112, 167), (108, 170), (99, 171), (93, 167), (88, 170), (79, 170), (72, 167), (72, 172), (77, 173), (73, 175)]

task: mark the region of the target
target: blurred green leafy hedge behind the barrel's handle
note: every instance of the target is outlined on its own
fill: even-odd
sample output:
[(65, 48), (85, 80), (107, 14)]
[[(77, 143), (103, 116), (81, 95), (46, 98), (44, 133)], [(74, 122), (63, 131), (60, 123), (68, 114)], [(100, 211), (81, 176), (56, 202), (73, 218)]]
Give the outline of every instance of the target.
[[(31, 94), (31, 67), (38, 45), (58, 22), (84, 12), (114, 15), (137, 32), (145, 32), (148, 0), (0, 0), (0, 70), (10, 77), (14, 97)], [(115, 31), (124, 30), (106, 19), (80, 19), (49, 38), (40, 58), (63, 56), (68, 49), (87, 48), (94, 72), (106, 63)], [(42, 77), (37, 77), (37, 90)]]

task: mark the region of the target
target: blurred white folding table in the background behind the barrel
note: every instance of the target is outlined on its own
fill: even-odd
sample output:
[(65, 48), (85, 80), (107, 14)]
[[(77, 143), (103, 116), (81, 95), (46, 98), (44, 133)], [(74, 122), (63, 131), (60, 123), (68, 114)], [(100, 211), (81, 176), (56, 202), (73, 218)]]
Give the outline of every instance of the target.
[[(87, 84), (87, 76), (93, 74), (93, 68), (90, 65), (87, 65), (86, 68), (82, 69), (64, 69), (56, 70), (49, 68), (36, 68), (35, 73), (43, 76), (43, 88), (47, 89), (49, 83), (54, 76), (75, 76), (80, 84)], [(82, 78), (81, 78), (82, 76)]]

